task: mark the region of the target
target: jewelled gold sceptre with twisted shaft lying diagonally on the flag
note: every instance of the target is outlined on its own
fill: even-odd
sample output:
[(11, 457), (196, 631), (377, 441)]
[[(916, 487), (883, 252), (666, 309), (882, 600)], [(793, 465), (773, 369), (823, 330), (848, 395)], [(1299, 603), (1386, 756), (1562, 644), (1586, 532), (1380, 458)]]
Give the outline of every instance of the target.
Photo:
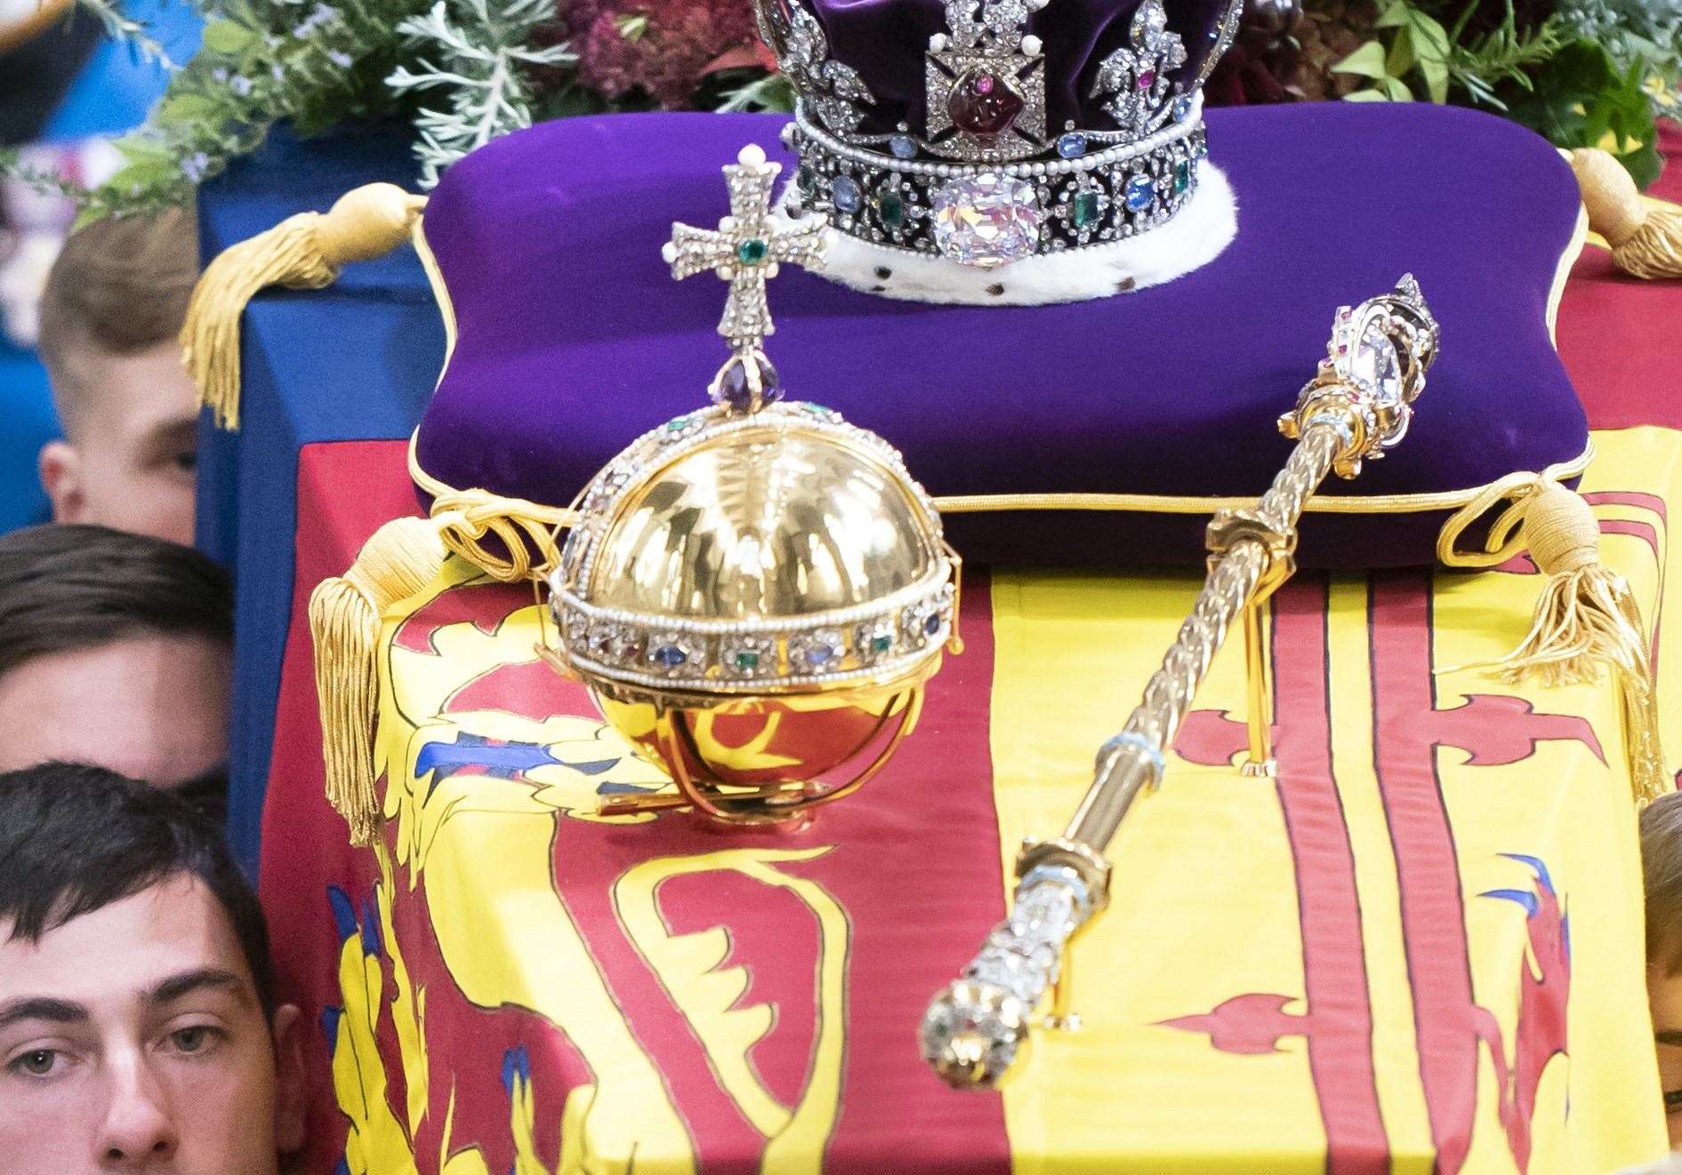
[(1162, 751), (1228, 627), (1295, 568), (1297, 519), (1325, 476), (1354, 477), (1362, 461), (1383, 457), (1406, 434), (1438, 343), (1411, 276), (1337, 311), (1327, 356), (1280, 419), (1297, 440), (1290, 459), (1253, 509), (1221, 511), (1209, 523), (1208, 580), (1144, 699), (1098, 750), (1092, 787), (1065, 834), (1023, 847), (1011, 916), (928, 1004), (923, 1059), (949, 1084), (989, 1088), (1021, 1061), (1034, 1015), (1066, 968), (1070, 940), (1108, 901), (1103, 851), (1139, 793), (1161, 782)]

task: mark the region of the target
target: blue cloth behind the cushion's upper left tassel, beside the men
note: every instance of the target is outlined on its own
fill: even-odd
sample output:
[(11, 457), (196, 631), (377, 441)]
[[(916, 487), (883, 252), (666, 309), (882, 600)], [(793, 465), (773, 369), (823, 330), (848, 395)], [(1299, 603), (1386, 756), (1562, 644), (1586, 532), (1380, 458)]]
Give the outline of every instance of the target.
[[(414, 192), (409, 140), (355, 129), (299, 143), (278, 131), (200, 192), (205, 259), (362, 183)], [(198, 546), (234, 572), (229, 835), (256, 869), (274, 704), (293, 600), (298, 451), (407, 437), (444, 360), (444, 328), (412, 249), (355, 264), (325, 291), (267, 291), (241, 333), (241, 429), (200, 420)]]

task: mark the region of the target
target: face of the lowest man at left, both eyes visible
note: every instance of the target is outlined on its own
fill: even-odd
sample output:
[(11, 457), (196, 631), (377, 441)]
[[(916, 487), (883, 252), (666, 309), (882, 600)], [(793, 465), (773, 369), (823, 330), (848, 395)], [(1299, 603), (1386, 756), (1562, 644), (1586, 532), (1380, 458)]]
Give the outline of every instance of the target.
[(197, 877), (35, 943), (10, 931), (0, 923), (0, 1175), (274, 1175), (301, 1146), (298, 1009), (264, 1019)]

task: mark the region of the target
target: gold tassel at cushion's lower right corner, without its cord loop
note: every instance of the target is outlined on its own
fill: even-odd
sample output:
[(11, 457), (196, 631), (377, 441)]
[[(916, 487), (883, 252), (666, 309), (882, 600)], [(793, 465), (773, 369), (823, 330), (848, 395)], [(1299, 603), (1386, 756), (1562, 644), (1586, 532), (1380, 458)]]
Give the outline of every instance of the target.
[(1502, 681), (1536, 676), (1547, 686), (1598, 681), (1610, 664), (1620, 682), (1625, 755), (1637, 807), (1670, 790), (1658, 741), (1652, 657), (1635, 593), (1600, 561), (1600, 523), (1578, 494), (1546, 484), (1524, 511), (1524, 543), (1547, 577), (1519, 647), (1494, 662)]

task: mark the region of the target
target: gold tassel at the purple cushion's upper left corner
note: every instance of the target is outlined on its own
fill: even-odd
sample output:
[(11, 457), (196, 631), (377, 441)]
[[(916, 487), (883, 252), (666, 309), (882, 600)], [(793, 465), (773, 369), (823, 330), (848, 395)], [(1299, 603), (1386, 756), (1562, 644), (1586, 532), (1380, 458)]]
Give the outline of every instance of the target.
[(219, 427), (239, 427), (239, 318), (246, 303), (266, 286), (321, 289), (348, 262), (383, 257), (409, 239), (424, 207), (426, 197), (394, 183), (368, 183), (341, 195), (331, 210), (288, 217), (210, 262), (187, 304), (182, 358)]

